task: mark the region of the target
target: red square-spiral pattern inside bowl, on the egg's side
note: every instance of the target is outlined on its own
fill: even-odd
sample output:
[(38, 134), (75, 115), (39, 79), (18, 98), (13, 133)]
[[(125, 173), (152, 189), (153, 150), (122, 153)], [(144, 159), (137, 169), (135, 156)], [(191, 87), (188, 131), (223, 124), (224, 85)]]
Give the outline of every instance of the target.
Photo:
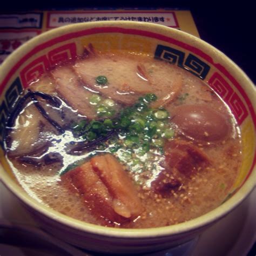
[(212, 77), (208, 81), (208, 84), (210, 84), (212, 89), (217, 92), (218, 95), (227, 103), (234, 114), (235, 119), (240, 125), (248, 116), (248, 111), (242, 100), (238, 97), (237, 93), (234, 92), (232, 87), (217, 72), (213, 73)]

